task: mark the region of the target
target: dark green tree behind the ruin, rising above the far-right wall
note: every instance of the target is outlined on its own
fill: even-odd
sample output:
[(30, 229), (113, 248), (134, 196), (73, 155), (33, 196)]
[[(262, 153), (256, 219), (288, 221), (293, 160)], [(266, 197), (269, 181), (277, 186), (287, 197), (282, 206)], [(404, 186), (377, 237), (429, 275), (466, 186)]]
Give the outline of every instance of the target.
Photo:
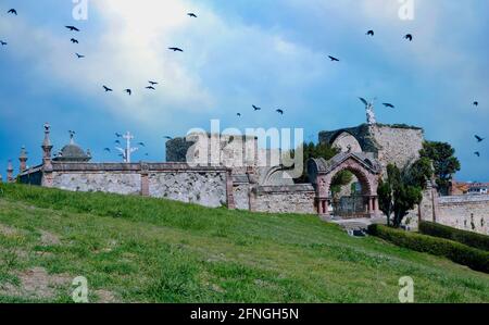
[(425, 141), (419, 154), (432, 162), (438, 189), (440, 193), (448, 195), (450, 182), (461, 168), (460, 161), (455, 157), (455, 149), (446, 142)]

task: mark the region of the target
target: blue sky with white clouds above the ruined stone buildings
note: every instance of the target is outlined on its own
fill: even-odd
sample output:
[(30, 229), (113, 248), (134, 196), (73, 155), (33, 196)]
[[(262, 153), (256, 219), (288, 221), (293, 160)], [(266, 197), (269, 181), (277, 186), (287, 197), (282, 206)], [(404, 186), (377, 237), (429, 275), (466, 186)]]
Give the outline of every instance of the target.
[[(39, 163), (48, 121), (58, 150), (75, 129), (96, 161), (116, 161), (103, 148), (113, 148), (115, 132), (130, 130), (148, 146), (135, 159), (161, 161), (163, 136), (209, 128), (211, 118), (243, 130), (303, 127), (315, 140), (319, 130), (364, 123), (362, 96), (397, 105), (376, 107), (380, 123), (421, 126), (427, 139), (452, 143), (462, 162), (457, 179), (488, 182), (489, 140), (476, 143), (474, 135), (489, 137), (489, 2), (416, 0), (412, 21), (400, 20), (400, 5), (90, 0), (88, 20), (74, 21), (70, 0), (0, 0), (0, 39), (9, 42), (0, 48), (0, 172), (5, 177), (9, 159), (17, 166), (23, 145), (29, 165)], [(11, 8), (18, 16), (7, 14)], [(408, 33), (413, 42), (402, 39)], [(70, 43), (73, 36), (79, 45)], [(149, 79), (161, 82), (156, 91), (143, 89)]]

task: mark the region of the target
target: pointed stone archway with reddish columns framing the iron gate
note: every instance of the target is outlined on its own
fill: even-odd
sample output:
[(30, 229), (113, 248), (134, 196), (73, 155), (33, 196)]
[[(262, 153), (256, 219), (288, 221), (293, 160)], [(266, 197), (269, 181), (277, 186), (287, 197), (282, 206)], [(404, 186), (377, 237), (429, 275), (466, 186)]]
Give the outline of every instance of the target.
[(311, 159), (308, 162), (308, 172), (311, 183), (316, 190), (317, 213), (329, 217), (331, 202), (330, 186), (333, 178), (341, 171), (353, 173), (362, 185), (365, 212), (359, 216), (374, 217), (379, 214), (377, 187), (381, 167), (372, 157), (361, 152), (342, 152), (331, 160)]

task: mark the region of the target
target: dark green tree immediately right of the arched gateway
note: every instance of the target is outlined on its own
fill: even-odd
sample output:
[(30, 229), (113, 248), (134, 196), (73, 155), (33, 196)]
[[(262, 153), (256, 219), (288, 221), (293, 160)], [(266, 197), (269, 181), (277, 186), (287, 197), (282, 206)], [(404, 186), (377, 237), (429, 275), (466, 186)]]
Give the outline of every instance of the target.
[(387, 215), (389, 226), (399, 228), (409, 211), (423, 200), (423, 184), (426, 184), (426, 179), (413, 177), (418, 176), (415, 164), (402, 171), (389, 164), (386, 179), (379, 182), (377, 189), (379, 208)]

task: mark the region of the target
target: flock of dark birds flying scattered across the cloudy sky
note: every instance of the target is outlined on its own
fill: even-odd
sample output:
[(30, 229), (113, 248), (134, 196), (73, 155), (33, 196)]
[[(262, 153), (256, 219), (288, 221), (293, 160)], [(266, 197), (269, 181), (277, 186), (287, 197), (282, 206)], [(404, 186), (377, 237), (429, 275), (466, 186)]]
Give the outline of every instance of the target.
[[(10, 9), (10, 10), (8, 11), (8, 14), (12, 14), (12, 15), (15, 15), (15, 16), (16, 16), (16, 15), (17, 15), (17, 11), (16, 11), (15, 9)], [(189, 17), (191, 17), (191, 18), (197, 18), (197, 17), (198, 17), (197, 14), (195, 14), (195, 13), (188, 13), (187, 15), (188, 15)], [(79, 33), (79, 32), (80, 32), (80, 29), (77, 28), (77, 27), (75, 27), (75, 26), (65, 26), (65, 27), (66, 27), (70, 32), (76, 32), (76, 33)], [(367, 36), (369, 36), (369, 37), (374, 37), (374, 36), (375, 36), (375, 32), (371, 29), (371, 30), (366, 32), (365, 35), (367, 35)], [(413, 41), (414, 37), (413, 37), (412, 34), (406, 34), (406, 35), (404, 36), (404, 39), (411, 42), (411, 41)], [(70, 41), (71, 41), (73, 45), (79, 45), (79, 41), (78, 41), (76, 38), (74, 38), (74, 37), (72, 37)], [(4, 47), (4, 46), (8, 46), (8, 42), (4, 41), (4, 40), (0, 40), (0, 45), (1, 45), (2, 47)], [(178, 47), (170, 47), (168, 50), (171, 50), (171, 51), (173, 51), (173, 52), (181, 52), (181, 53), (184, 52), (184, 50), (183, 50), (181, 48), (178, 48)], [(78, 59), (84, 59), (84, 58), (85, 58), (84, 54), (80, 54), (80, 53), (78, 53), (78, 52), (76, 52), (75, 54), (76, 54), (76, 58), (78, 58)], [(338, 58), (336, 58), (336, 57), (328, 55), (328, 58), (329, 58), (329, 60), (330, 60), (331, 62), (340, 62), (340, 59), (338, 59)], [(156, 85), (159, 85), (158, 82), (149, 80), (149, 82), (148, 82), (148, 86), (146, 87), (146, 89), (148, 89), (148, 90), (156, 90), (155, 87), (154, 87), (154, 86), (156, 86)], [(110, 87), (106, 86), (106, 85), (102, 85), (102, 88), (103, 88), (103, 90), (104, 90), (105, 92), (113, 92), (113, 91), (114, 91), (112, 88), (110, 88)], [(128, 96), (131, 96), (131, 95), (133, 95), (133, 89), (131, 89), (131, 88), (126, 88), (126, 89), (124, 89), (124, 92), (126, 92)], [(360, 100), (361, 100), (365, 105), (368, 104), (367, 101), (366, 101), (365, 99), (360, 98)], [(396, 107), (394, 107), (393, 104), (388, 103), (388, 102), (383, 103), (383, 105), (386, 107), (386, 108), (388, 108), (388, 109), (396, 109)], [(474, 101), (474, 102), (473, 102), (473, 105), (477, 108), (477, 107), (479, 107), (479, 102), (478, 102), (478, 101)], [(253, 108), (254, 112), (262, 111), (262, 108), (256, 107), (255, 104), (253, 104), (252, 108)], [(285, 114), (285, 111), (284, 111), (283, 109), (277, 109), (275, 112), (278, 113), (278, 114), (280, 114), (280, 115), (284, 115), (284, 114)], [(241, 117), (242, 114), (241, 114), (241, 113), (237, 113), (237, 116), (238, 116), (238, 117)], [(71, 133), (73, 133), (73, 132), (71, 132)], [(123, 136), (122, 136), (121, 134), (118, 134), (118, 133), (116, 133), (115, 136), (116, 136), (117, 138), (122, 138), (122, 137), (123, 137)], [(170, 136), (165, 136), (164, 138), (167, 139), (167, 140), (171, 140), (171, 139), (172, 139), (172, 137), (170, 137)], [(475, 138), (476, 138), (476, 140), (477, 140), (477, 143), (480, 143), (480, 142), (482, 142), (482, 141), (485, 140), (485, 138), (482, 138), (482, 137), (480, 137), (480, 136), (478, 136), (478, 135), (476, 135)], [(115, 143), (121, 145), (121, 140), (117, 139), (117, 140), (115, 141)], [(146, 147), (146, 145), (145, 145), (143, 142), (139, 142), (138, 145), (141, 146), (141, 147)], [(110, 148), (105, 148), (104, 151), (111, 152), (111, 149), (110, 149)], [(474, 152), (474, 154), (477, 155), (477, 157), (480, 157), (480, 155), (481, 155), (481, 154), (480, 154), (480, 151), (476, 151), (476, 152)], [(146, 153), (146, 155), (148, 155), (148, 153)]]

